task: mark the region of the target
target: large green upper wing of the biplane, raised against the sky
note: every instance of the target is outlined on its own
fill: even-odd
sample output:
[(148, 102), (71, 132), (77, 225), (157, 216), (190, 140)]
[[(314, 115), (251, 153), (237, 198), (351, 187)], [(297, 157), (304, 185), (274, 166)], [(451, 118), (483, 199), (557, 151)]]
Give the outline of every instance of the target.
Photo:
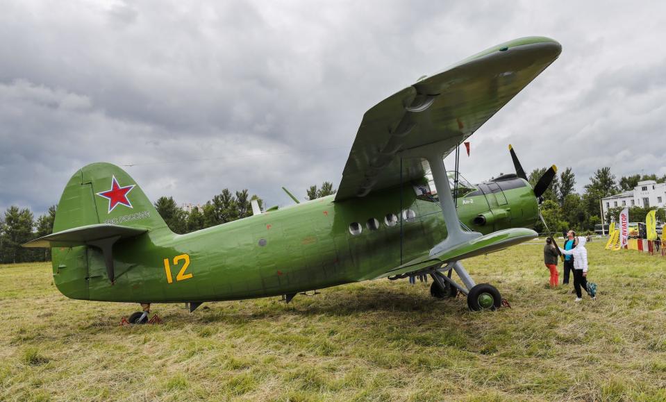
[(560, 55), (547, 37), (499, 44), (424, 78), (365, 112), (335, 201), (365, 196), (424, 176), (420, 160), (397, 153), (444, 142), (448, 151), (472, 135)]

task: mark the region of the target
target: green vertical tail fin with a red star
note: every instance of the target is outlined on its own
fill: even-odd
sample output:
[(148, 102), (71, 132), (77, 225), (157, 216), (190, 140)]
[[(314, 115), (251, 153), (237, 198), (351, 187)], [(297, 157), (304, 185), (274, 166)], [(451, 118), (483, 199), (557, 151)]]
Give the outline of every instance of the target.
[(94, 224), (151, 231), (167, 228), (134, 179), (110, 163), (85, 166), (69, 179), (58, 203), (53, 232)]

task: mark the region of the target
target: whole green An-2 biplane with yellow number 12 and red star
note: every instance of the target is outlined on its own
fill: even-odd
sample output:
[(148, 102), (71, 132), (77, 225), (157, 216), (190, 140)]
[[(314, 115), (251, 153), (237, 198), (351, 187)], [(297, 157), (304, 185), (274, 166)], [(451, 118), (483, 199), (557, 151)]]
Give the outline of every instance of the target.
[(435, 297), (462, 292), (471, 310), (492, 310), (499, 292), (474, 283), (460, 261), (535, 238), (540, 196), (556, 168), (533, 188), (511, 149), (516, 174), (463, 181), (454, 200), (443, 158), (560, 51), (555, 40), (524, 37), (384, 99), (365, 113), (333, 196), (176, 235), (125, 171), (93, 163), (67, 183), (54, 233), (25, 246), (51, 247), (65, 296), (141, 303), (133, 324), (147, 321), (150, 303), (185, 302), (192, 311), (206, 301), (290, 301), (413, 274), (433, 277)]

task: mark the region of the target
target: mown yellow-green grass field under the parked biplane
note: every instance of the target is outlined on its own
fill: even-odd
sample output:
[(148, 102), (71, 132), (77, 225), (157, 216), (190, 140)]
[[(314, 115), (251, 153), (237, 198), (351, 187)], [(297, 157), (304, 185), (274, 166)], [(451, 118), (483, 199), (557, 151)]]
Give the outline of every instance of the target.
[(597, 301), (548, 289), (528, 244), (465, 262), (513, 305), (497, 312), (376, 280), (289, 305), (158, 304), (164, 324), (131, 327), (138, 305), (69, 300), (49, 264), (3, 266), (0, 400), (666, 400), (666, 259), (602, 246)]

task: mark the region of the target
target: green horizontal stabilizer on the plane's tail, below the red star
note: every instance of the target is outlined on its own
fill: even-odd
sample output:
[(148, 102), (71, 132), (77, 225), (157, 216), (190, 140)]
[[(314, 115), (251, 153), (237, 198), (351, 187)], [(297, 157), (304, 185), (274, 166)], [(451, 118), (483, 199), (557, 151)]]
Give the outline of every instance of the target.
[(38, 239), (31, 240), (24, 247), (73, 247), (85, 246), (91, 242), (117, 237), (118, 240), (135, 237), (146, 233), (147, 228), (136, 228), (128, 226), (118, 226), (109, 224), (96, 224), (88, 226), (79, 226), (78, 228), (67, 229)]

